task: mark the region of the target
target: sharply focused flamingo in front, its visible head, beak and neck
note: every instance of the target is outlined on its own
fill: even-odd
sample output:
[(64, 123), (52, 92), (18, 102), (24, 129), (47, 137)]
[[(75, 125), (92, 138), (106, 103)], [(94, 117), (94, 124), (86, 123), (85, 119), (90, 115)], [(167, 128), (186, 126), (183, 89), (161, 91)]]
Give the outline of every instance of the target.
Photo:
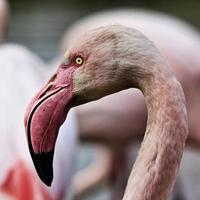
[(55, 142), (69, 109), (131, 87), (144, 94), (148, 122), (123, 199), (167, 199), (188, 135), (184, 94), (153, 43), (120, 25), (79, 38), (27, 107), (28, 146), (46, 185), (53, 180)]

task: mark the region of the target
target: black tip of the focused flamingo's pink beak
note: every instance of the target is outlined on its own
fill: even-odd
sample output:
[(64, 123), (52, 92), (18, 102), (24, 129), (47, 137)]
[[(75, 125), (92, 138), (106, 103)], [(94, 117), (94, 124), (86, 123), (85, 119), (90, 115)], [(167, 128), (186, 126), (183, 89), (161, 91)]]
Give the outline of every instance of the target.
[(53, 154), (54, 151), (32, 154), (36, 171), (47, 186), (51, 186), (53, 180)]

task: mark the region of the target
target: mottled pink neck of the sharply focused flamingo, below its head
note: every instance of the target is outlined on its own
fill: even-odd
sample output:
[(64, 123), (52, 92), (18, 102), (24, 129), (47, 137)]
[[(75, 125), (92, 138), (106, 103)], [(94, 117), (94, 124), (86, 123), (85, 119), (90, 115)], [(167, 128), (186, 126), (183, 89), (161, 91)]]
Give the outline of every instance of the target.
[(123, 200), (167, 199), (179, 169), (188, 133), (185, 99), (168, 67), (160, 65), (138, 83), (148, 121)]

